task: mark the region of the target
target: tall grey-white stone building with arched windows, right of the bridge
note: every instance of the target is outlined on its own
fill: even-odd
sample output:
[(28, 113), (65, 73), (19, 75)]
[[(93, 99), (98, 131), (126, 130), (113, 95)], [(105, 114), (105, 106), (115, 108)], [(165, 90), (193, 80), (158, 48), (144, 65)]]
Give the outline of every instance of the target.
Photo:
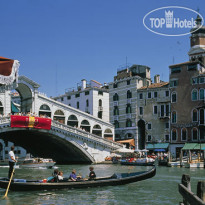
[(137, 90), (150, 84), (150, 68), (142, 65), (119, 70), (109, 83), (110, 122), (115, 125), (115, 140), (135, 139), (136, 149), (145, 146), (145, 139), (138, 138)]

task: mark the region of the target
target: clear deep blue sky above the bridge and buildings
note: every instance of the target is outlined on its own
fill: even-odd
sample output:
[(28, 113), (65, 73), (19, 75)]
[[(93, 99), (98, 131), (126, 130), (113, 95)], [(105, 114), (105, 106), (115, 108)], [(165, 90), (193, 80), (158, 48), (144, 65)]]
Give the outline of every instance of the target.
[(144, 16), (180, 6), (205, 17), (204, 0), (8, 0), (1, 1), (0, 56), (20, 61), (19, 75), (50, 96), (82, 79), (113, 81), (126, 64), (151, 68), (169, 80), (169, 65), (188, 61), (190, 35), (162, 36), (145, 28)]

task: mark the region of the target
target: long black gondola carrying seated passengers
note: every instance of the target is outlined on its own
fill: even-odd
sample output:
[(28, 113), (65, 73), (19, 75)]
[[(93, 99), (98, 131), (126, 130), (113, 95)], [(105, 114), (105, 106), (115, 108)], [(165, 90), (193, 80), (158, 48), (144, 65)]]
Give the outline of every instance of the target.
[[(102, 186), (118, 186), (137, 181), (142, 181), (154, 177), (156, 174), (156, 167), (148, 171), (134, 172), (134, 173), (117, 173), (110, 177), (96, 178), (95, 180), (81, 180), (81, 181), (67, 181), (67, 182), (47, 182), (14, 179), (11, 182), (10, 190), (13, 191), (38, 191), (38, 190), (57, 190), (57, 189), (75, 189), (75, 188), (89, 188)], [(0, 178), (0, 188), (6, 189), (8, 186), (8, 179)]]

